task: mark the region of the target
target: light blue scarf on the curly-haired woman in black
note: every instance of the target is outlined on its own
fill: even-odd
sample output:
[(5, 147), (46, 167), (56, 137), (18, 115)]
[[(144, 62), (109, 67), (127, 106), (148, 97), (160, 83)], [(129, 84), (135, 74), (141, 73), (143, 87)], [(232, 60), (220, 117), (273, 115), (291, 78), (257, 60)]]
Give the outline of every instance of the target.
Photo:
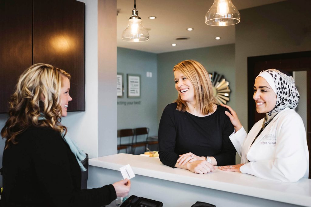
[[(45, 117), (43, 117), (43, 114), (41, 114), (38, 120), (44, 120), (44, 119)], [(64, 134), (65, 132), (62, 133), (62, 137), (65, 140), (65, 142), (69, 145), (71, 152), (75, 155), (81, 171), (82, 172), (86, 171), (86, 168), (81, 163), (81, 161), (83, 161), (86, 158), (86, 154), (81, 149), (78, 148), (77, 143), (75, 141), (70, 139), (70, 137), (68, 136), (68, 132), (66, 133), (66, 135)]]

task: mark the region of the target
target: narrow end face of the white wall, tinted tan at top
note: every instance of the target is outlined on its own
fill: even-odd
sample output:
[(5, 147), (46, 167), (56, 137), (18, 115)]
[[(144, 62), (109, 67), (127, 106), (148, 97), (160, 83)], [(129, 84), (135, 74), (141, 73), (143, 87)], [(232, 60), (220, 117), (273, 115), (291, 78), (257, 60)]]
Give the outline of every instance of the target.
[(98, 0), (98, 156), (117, 153), (117, 1)]

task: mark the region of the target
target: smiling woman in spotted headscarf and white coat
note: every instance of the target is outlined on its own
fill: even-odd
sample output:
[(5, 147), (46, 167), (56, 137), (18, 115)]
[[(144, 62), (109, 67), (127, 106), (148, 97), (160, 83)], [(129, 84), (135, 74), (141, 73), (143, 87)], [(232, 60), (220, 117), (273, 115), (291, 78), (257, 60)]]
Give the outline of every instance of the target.
[(294, 110), (299, 93), (293, 77), (276, 69), (262, 71), (255, 79), (253, 99), (265, 117), (248, 134), (234, 110), (223, 105), (231, 113), (225, 112), (235, 129), (230, 140), (241, 164), (219, 168), (283, 182), (308, 178), (309, 152), (303, 121)]

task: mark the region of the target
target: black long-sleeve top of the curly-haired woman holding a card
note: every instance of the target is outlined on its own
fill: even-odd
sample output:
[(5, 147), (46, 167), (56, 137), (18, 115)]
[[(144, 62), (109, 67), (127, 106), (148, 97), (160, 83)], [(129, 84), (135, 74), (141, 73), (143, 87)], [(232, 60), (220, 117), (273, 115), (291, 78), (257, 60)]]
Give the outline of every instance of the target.
[(30, 127), (3, 152), (5, 206), (102, 206), (113, 185), (81, 190), (81, 169), (59, 132)]

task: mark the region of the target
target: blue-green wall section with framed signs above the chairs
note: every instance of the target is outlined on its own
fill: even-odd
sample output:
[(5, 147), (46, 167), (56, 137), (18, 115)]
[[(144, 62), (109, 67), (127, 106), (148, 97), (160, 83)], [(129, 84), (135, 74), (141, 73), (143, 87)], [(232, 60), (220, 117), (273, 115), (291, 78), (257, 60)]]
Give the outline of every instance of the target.
[[(123, 73), (124, 85), (123, 98), (117, 98), (119, 103), (117, 105), (118, 130), (149, 127), (149, 135), (157, 135), (156, 54), (118, 47), (117, 72)], [(146, 77), (146, 72), (151, 72), (152, 77)], [(141, 75), (141, 98), (127, 98), (127, 74)], [(120, 102), (125, 102), (126, 105), (120, 104)], [(133, 102), (133, 104), (129, 105), (128, 102)]]

